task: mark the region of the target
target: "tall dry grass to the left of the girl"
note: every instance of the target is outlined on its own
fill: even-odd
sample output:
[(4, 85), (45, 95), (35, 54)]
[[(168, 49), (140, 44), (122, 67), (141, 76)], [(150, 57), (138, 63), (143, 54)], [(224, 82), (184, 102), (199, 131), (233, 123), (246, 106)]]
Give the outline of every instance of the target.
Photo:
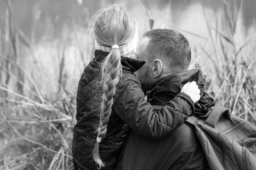
[(84, 43), (83, 30), (50, 45), (34, 45), (15, 25), (10, 0), (5, 15), (5, 34), (0, 35), (5, 40), (0, 50), (0, 169), (73, 169), (76, 87), (93, 49)]

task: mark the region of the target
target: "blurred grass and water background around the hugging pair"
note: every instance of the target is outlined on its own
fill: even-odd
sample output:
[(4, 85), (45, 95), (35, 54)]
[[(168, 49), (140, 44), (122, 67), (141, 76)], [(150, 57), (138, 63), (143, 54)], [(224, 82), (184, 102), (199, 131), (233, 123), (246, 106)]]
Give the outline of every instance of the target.
[(255, 125), (255, 0), (0, 0), (0, 169), (72, 169), (76, 90), (93, 58), (88, 24), (111, 4), (139, 36), (176, 29), (205, 91)]

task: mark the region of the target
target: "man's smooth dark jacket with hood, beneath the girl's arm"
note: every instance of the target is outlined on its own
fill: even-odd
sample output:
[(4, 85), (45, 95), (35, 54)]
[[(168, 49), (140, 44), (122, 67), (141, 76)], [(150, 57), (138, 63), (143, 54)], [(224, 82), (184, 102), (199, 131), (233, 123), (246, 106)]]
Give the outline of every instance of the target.
[[(207, 117), (207, 111), (214, 106), (214, 100), (202, 91), (204, 83), (200, 70), (172, 74), (157, 81), (148, 101), (158, 110), (180, 92), (180, 85), (195, 80), (201, 90), (201, 99), (195, 104), (195, 114)], [(124, 170), (166, 170), (166, 169), (209, 169), (193, 125), (187, 122), (159, 141), (148, 141), (140, 134), (131, 132), (120, 154), (116, 169)]]

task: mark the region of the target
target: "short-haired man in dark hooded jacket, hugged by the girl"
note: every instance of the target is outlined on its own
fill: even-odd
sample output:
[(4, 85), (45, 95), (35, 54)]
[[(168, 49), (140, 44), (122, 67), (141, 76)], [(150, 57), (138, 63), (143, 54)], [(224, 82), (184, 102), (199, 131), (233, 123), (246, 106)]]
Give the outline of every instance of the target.
[[(164, 105), (188, 81), (196, 81), (201, 99), (195, 104), (195, 114), (207, 117), (214, 100), (202, 91), (200, 70), (188, 71), (191, 50), (188, 40), (171, 29), (154, 29), (144, 34), (136, 57), (146, 64), (137, 76), (147, 100), (156, 106)], [(193, 126), (184, 123), (158, 141), (148, 141), (131, 132), (125, 143), (116, 169), (209, 169)]]

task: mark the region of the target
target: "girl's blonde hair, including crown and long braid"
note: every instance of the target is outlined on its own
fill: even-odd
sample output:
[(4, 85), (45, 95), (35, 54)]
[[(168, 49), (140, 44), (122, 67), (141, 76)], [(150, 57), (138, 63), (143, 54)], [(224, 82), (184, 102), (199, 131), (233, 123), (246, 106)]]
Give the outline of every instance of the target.
[[(137, 31), (136, 20), (127, 15), (124, 8), (119, 5), (112, 5), (109, 8), (98, 11), (94, 15), (90, 27), (95, 41), (100, 46), (109, 48), (113, 45), (126, 45), (129, 41), (132, 41)], [(108, 56), (102, 61), (101, 76), (100, 86), (103, 94), (97, 141), (93, 148), (93, 159), (99, 165), (99, 169), (104, 167), (104, 162), (100, 159), (99, 153), (100, 140), (106, 136), (116, 85), (122, 76), (121, 54), (118, 48), (112, 48)]]

